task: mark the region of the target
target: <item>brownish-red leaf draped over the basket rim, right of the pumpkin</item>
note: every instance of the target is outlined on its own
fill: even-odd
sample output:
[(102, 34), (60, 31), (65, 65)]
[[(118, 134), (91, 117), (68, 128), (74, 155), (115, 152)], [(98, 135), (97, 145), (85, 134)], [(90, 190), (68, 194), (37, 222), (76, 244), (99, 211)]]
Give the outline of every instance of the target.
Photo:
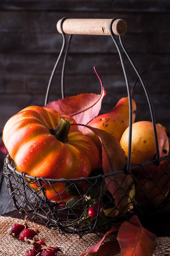
[[(104, 130), (93, 128), (91, 130), (101, 139), (102, 142), (102, 159), (103, 159), (103, 171), (105, 174), (116, 172), (124, 168), (127, 157), (125, 152), (121, 148), (119, 141)], [(129, 194), (132, 189), (131, 175), (125, 175), (125, 173), (117, 173), (115, 175), (105, 178), (107, 189), (113, 195), (116, 207), (120, 210), (119, 213), (126, 213), (130, 207)]]

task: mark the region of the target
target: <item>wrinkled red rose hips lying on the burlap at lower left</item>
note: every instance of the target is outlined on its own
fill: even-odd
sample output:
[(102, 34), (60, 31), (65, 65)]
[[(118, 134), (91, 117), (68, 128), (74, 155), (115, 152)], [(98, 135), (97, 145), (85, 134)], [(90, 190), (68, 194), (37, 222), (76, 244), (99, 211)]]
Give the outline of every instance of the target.
[(8, 233), (12, 236), (18, 236), (19, 240), (30, 242), (33, 249), (25, 252), (25, 256), (56, 256), (57, 252), (62, 252), (58, 247), (48, 247), (44, 241), (32, 240), (37, 235), (37, 231), (29, 229), (25, 220), (25, 225), (13, 224)]

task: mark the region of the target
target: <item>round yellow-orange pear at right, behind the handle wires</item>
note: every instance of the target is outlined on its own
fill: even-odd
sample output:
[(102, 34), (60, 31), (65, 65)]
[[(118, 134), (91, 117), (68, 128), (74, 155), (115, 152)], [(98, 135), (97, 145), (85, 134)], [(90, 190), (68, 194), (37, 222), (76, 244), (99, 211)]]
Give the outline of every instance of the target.
[[(163, 158), (169, 155), (169, 141), (165, 130), (156, 125), (159, 154)], [(120, 144), (128, 156), (129, 127), (123, 133)], [(132, 125), (131, 165), (142, 164), (154, 159), (156, 146), (153, 124), (150, 121), (139, 121)]]

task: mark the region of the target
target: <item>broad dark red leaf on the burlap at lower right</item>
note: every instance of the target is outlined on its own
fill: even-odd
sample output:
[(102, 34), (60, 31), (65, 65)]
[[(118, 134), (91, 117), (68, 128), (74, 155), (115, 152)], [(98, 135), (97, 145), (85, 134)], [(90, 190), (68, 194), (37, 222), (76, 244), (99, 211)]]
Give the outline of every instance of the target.
[(117, 240), (122, 256), (152, 256), (156, 247), (156, 235), (145, 229), (137, 216), (121, 225)]

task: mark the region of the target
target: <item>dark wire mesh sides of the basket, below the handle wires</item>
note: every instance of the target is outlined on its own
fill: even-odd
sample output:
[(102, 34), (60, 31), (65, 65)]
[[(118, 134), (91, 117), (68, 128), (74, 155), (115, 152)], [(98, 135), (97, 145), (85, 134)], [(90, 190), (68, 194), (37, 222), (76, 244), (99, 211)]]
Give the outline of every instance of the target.
[[(125, 204), (124, 208), (119, 208), (119, 202), (123, 198), (120, 198), (119, 202), (115, 202), (114, 195), (118, 193), (119, 189), (123, 189), (123, 186), (121, 183), (116, 181), (116, 175), (115, 177), (110, 177), (110, 182), (116, 182), (117, 188), (114, 192), (114, 195), (108, 194), (107, 189), (104, 188), (105, 183), (105, 175), (101, 176), (102, 182), (98, 183), (97, 180), (88, 180), (86, 183), (86, 189), (85, 193), (80, 193), (79, 189), (77, 187), (77, 183), (74, 182), (68, 182), (68, 180), (65, 180), (65, 189), (69, 188), (69, 186), (73, 185), (74, 189), (78, 192), (78, 201), (82, 201), (83, 204), (81, 204), (81, 208), (76, 209), (72, 205), (71, 207), (67, 207), (67, 203), (62, 200), (62, 193), (60, 194), (61, 201), (54, 202), (53, 197), (47, 198), (46, 194), (46, 184), (49, 184), (49, 182), (42, 181), (41, 178), (37, 178), (37, 181), (28, 180), (25, 173), (20, 173), (18, 175), (15, 168), (13, 168), (13, 172), (9, 169), (8, 162), (5, 162), (4, 166), (4, 178), (7, 183), (7, 186), (10, 190), (11, 198), (13, 199), (13, 202), (15, 204), (16, 209), (20, 213), (25, 213), (26, 215), (30, 216), (33, 220), (38, 220), (41, 223), (44, 223), (47, 227), (53, 227), (54, 229), (57, 229), (62, 234), (70, 233), (70, 234), (79, 234), (80, 236), (82, 234), (87, 233), (98, 233), (100, 231), (102, 225), (107, 226), (106, 228), (110, 230), (112, 225), (114, 225), (117, 221), (124, 221), (128, 220), (133, 214), (147, 214), (154, 211), (157, 211), (161, 209), (162, 207), (165, 207), (165, 205), (169, 202), (169, 198), (166, 198), (164, 187), (170, 183), (170, 175), (166, 172), (166, 168), (162, 166), (162, 172), (158, 178), (154, 176), (154, 172), (152, 173), (145, 169), (146, 176), (144, 177), (142, 172), (139, 172), (136, 174), (133, 174), (133, 180), (134, 184), (138, 184), (138, 189), (136, 190), (136, 193), (142, 193), (142, 197), (144, 196), (144, 200), (147, 200), (146, 204), (142, 205), (142, 200), (137, 200), (135, 202), (134, 196), (133, 198), (129, 195), (128, 191), (130, 187), (125, 190), (125, 196), (127, 196), (130, 199), (130, 202)], [(169, 162), (170, 164), (170, 157)], [(142, 167), (142, 166), (141, 166)], [(155, 170), (157, 166), (155, 166)], [(144, 168), (142, 168), (144, 170)], [(164, 176), (165, 175), (165, 176)], [(165, 177), (165, 184), (162, 184), (162, 177)], [(126, 177), (126, 176), (125, 176)], [(140, 182), (140, 179), (144, 178), (143, 182)], [(167, 180), (168, 178), (168, 180)], [(67, 182), (66, 182), (67, 181)], [(80, 180), (77, 179), (79, 182)], [(150, 188), (149, 191), (145, 191), (145, 182), (147, 181), (153, 181), (153, 187)], [(37, 186), (37, 189), (34, 190), (32, 184), (35, 184)], [(84, 184), (84, 183), (83, 183)], [(83, 185), (82, 184), (82, 185)], [(98, 191), (97, 196), (95, 197), (98, 201), (98, 206), (96, 206), (96, 212), (97, 215), (94, 220), (89, 220), (86, 222), (87, 211), (89, 207), (94, 207), (94, 202), (91, 201), (93, 196), (90, 199), (87, 199), (89, 196), (89, 191), (93, 188)], [(157, 189), (157, 193), (152, 197), (150, 195), (150, 191), (152, 188)], [(51, 184), (51, 189), (55, 191), (55, 188)], [(57, 194), (57, 192), (55, 191)], [(159, 195), (162, 196), (162, 201), (159, 201), (158, 204), (152, 203), (152, 200), (155, 200), (155, 198), (159, 197)], [(78, 202), (77, 201), (77, 202)], [(112, 205), (114, 207), (114, 210), (119, 211), (119, 216), (105, 216), (103, 213), (101, 213), (101, 202), (103, 202), (104, 209), (109, 209)], [(76, 204), (76, 203), (75, 203)], [(110, 204), (110, 207), (108, 205)], [(149, 204), (149, 205), (148, 205)], [(63, 206), (64, 205), (64, 206)], [(128, 211), (127, 213), (124, 212), (124, 209), (126, 207), (133, 205), (132, 211)], [(106, 230), (105, 230), (106, 231)]]

